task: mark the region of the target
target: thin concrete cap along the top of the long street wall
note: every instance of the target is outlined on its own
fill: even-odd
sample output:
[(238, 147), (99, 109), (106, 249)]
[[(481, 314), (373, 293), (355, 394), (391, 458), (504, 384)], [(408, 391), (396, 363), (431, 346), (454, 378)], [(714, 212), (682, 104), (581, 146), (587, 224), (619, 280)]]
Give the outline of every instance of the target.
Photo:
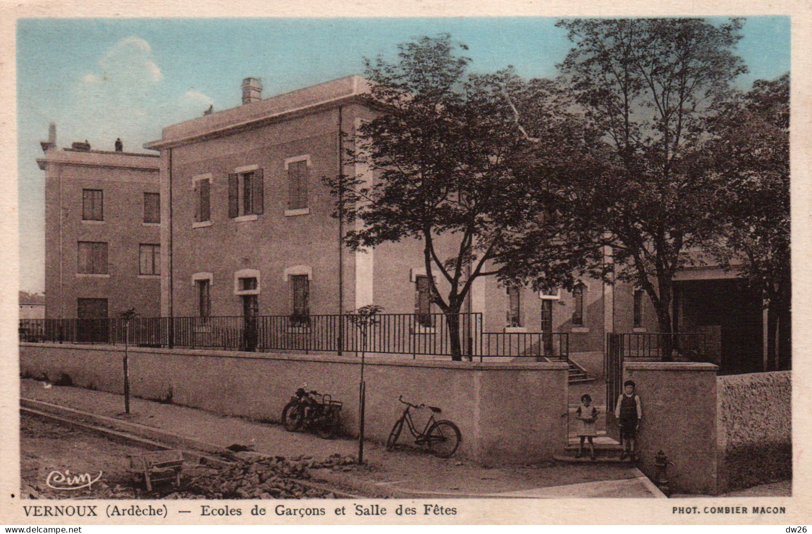
[[(122, 352), (123, 345), (71, 345), (70, 343), (34, 343), (20, 342), (21, 347), (58, 348), (67, 351), (108, 351)], [(330, 362), (336, 364), (361, 365), (361, 358), (355, 355), (338, 356), (327, 354), (293, 354), (287, 352), (240, 352), (240, 351), (209, 351), (205, 349), (158, 349), (151, 347), (128, 347), (132, 353), (147, 354), (167, 354), (167, 355), (188, 355), (188, 356), (210, 356), (214, 358), (242, 358), (248, 360), (300, 360), (313, 362)], [(395, 356), (396, 358), (397, 356)], [(438, 360), (411, 360), (410, 355), (402, 355), (400, 359), (379, 359), (376, 356), (368, 356), (366, 365), (390, 365), (395, 367), (422, 367), (422, 368), (449, 368), (467, 369), (470, 371), (566, 371), (569, 367), (566, 362), (455, 362)]]

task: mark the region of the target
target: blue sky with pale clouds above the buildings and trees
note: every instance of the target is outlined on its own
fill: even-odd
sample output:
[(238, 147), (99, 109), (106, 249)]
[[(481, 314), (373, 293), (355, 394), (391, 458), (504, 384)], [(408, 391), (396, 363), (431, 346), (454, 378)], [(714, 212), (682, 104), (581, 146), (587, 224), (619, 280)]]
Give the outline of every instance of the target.
[[(717, 20), (717, 19), (711, 19)], [(719, 19), (721, 21), (722, 19)], [(789, 17), (749, 17), (738, 53), (749, 74), (789, 70)], [(362, 74), (363, 58), (441, 32), (469, 45), (474, 71), (513, 65), (525, 77), (555, 76), (570, 48), (553, 18), (443, 19), (21, 19), (17, 24), (20, 288), (43, 291), (44, 173), (40, 140), (57, 124), (59, 147), (89, 140), (127, 151), (209, 105), (240, 105), (240, 82), (261, 78), (263, 96)]]

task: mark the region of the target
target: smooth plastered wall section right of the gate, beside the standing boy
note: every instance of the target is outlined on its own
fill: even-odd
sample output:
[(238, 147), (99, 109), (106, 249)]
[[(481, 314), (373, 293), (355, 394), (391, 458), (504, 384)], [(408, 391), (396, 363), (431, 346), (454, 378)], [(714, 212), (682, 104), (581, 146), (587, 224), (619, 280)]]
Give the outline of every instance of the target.
[(716, 370), (685, 362), (624, 364), (624, 380), (637, 384), (643, 411), (639, 466), (655, 480), (654, 455), (662, 450), (672, 462), (674, 493), (717, 493)]

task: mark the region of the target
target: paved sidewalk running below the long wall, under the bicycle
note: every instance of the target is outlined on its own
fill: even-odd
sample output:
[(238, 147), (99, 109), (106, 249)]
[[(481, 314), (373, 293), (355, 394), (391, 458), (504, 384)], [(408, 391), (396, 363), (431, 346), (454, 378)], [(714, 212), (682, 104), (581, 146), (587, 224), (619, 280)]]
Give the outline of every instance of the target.
[[(288, 433), (264, 424), (208, 411), (131, 399), (123, 416), (123, 395), (22, 380), (20, 397), (113, 418), (156, 433), (175, 434), (212, 446), (251, 445), (257, 452), (295, 458), (326, 459), (357, 454), (357, 440), (322, 440), (309, 433)], [(140, 427), (140, 425), (144, 425)], [(486, 468), (464, 459), (438, 459), (417, 450), (387, 452), (367, 441), (365, 465), (352, 472), (313, 470), (313, 476), (365, 494), (389, 497), (663, 497), (636, 467), (611, 464), (547, 462), (519, 467)]]

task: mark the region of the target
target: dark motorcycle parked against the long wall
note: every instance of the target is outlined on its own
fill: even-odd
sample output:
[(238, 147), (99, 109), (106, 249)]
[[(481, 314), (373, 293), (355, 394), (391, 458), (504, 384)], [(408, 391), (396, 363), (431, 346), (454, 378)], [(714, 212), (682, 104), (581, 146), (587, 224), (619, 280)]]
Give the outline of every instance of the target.
[(282, 410), (282, 423), (288, 432), (303, 426), (313, 428), (319, 437), (332, 439), (341, 428), (341, 407), (329, 394), (299, 388)]

